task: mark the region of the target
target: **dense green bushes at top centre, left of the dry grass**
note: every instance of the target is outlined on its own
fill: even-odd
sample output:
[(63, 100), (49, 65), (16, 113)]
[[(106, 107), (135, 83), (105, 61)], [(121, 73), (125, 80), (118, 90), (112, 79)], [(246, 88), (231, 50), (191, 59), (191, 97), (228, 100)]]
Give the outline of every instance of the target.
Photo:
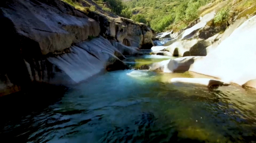
[[(132, 0), (126, 6), (134, 14), (131, 19), (140, 14), (140, 19), (157, 32), (170, 28), (174, 23), (180, 23), (181, 28), (197, 19), (198, 9), (210, 0)], [(139, 22), (139, 21), (137, 21)]]

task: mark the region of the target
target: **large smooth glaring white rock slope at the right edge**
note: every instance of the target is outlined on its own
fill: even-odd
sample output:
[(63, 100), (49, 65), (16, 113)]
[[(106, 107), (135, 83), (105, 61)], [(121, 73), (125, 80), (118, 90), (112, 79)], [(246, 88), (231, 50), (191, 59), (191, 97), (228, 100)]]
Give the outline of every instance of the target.
[[(190, 71), (211, 75), (239, 85), (256, 79), (256, 16), (246, 20), (219, 46), (200, 60), (196, 60)], [(208, 66), (207, 66), (208, 65)]]

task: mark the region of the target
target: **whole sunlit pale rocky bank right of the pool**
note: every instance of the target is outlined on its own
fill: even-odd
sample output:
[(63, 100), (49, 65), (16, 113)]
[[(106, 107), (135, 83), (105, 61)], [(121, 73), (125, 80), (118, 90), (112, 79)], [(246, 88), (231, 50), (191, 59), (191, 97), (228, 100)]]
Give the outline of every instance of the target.
[(152, 54), (181, 57), (154, 63), (151, 70), (193, 71), (219, 78), (225, 83), (256, 88), (255, 13), (237, 16), (224, 32), (209, 24), (215, 14), (215, 11), (205, 14), (180, 35), (176, 34), (161, 46), (152, 47)]

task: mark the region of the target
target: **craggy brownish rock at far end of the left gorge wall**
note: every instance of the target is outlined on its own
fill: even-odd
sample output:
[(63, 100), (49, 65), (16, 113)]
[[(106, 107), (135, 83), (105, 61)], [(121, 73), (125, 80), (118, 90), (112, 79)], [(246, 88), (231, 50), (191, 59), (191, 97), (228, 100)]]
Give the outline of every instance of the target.
[(89, 11), (87, 16), (99, 23), (101, 27), (100, 35), (104, 38), (114, 39), (131, 47), (151, 48), (153, 46), (153, 32), (143, 23), (136, 23), (123, 17), (108, 17), (93, 11)]

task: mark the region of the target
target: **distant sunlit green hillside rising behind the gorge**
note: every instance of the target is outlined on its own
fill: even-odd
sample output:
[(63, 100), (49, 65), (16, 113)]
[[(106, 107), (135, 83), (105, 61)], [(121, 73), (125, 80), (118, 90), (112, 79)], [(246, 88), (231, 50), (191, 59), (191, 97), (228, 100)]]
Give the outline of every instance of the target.
[(220, 11), (219, 20), (233, 20), (255, 6), (255, 0), (132, 0), (124, 3), (133, 13), (131, 19), (150, 25), (156, 32), (179, 31), (211, 11)]

